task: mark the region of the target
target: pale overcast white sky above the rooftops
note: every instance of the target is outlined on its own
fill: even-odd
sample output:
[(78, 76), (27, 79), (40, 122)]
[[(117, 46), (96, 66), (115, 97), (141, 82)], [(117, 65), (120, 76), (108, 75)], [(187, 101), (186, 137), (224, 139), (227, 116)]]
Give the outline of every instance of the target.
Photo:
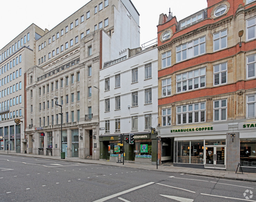
[[(103, 0), (102, 0), (103, 1)], [(169, 8), (177, 21), (207, 7), (207, 0), (131, 0), (140, 14), (140, 44), (157, 37), (157, 25), (161, 13), (169, 14)], [(51, 30), (76, 12), (89, 0), (9, 0), (0, 7), (0, 49), (18, 36), (32, 23), (41, 29)]]

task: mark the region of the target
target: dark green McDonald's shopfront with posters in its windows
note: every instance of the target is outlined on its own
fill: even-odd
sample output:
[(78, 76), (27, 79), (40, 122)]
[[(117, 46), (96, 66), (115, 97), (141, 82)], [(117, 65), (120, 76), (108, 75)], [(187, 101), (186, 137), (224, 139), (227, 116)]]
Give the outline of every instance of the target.
[[(129, 134), (125, 134), (125, 138), (126, 137), (129, 137)], [(118, 138), (119, 134), (111, 136), (99, 136), (99, 159), (117, 162), (118, 154), (121, 153), (122, 155), (122, 151), (124, 149), (125, 161), (134, 161), (138, 164), (156, 165), (156, 134), (134, 133), (134, 144), (129, 144), (125, 141), (124, 144), (120, 144)]]

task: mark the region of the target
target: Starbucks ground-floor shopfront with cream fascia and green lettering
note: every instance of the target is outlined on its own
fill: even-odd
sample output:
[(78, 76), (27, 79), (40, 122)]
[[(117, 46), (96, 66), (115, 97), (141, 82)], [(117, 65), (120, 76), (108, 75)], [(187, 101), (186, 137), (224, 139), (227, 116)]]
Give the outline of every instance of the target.
[(256, 172), (256, 119), (161, 127), (162, 148), (173, 141), (169, 157), (175, 166), (217, 168), (236, 171), (240, 162), (244, 172)]

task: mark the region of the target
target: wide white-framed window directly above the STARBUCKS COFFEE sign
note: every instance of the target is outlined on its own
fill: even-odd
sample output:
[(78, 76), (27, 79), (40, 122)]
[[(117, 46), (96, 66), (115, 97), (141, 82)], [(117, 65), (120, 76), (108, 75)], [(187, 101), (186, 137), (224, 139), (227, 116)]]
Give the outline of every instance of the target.
[(177, 106), (177, 124), (205, 122), (205, 102)]

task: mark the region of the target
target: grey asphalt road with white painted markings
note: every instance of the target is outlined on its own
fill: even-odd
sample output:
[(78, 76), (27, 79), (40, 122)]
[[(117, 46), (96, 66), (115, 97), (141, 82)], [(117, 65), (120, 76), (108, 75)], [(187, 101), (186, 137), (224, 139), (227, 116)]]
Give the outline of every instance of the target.
[(256, 183), (0, 155), (0, 201), (256, 201)]

